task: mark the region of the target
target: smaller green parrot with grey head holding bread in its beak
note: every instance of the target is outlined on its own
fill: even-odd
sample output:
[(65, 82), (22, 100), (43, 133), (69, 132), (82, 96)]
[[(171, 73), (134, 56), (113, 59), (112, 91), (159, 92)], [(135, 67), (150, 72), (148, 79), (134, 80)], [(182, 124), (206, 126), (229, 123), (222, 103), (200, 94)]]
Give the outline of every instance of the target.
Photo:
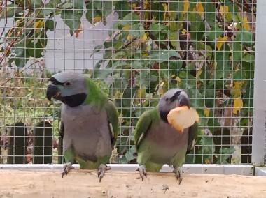
[[(177, 131), (167, 121), (169, 112), (181, 106), (190, 108), (188, 94), (182, 89), (167, 91), (157, 107), (141, 114), (134, 131), (139, 174), (144, 179), (146, 171), (159, 172), (167, 164), (174, 167), (179, 184), (183, 179), (181, 167), (186, 154), (193, 150), (197, 139), (197, 122), (183, 132)], [(189, 119), (189, 118), (188, 118)]]

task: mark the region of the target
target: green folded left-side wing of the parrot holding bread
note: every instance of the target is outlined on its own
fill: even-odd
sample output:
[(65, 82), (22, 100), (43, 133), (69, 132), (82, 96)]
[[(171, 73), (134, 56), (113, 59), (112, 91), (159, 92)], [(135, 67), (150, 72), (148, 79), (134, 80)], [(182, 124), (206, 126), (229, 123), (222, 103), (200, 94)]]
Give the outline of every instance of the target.
[(146, 132), (148, 131), (148, 128), (151, 127), (153, 111), (154, 109), (150, 109), (141, 114), (141, 116), (139, 117), (139, 121), (137, 122), (134, 132), (134, 143), (137, 150), (139, 148), (141, 140), (144, 138)]

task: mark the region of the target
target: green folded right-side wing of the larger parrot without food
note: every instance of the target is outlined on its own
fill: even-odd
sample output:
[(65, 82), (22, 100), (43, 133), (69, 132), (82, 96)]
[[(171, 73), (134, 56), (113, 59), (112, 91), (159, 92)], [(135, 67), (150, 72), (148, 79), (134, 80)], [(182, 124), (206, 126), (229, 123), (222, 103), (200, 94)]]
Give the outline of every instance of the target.
[(112, 140), (112, 147), (116, 144), (116, 139), (118, 137), (119, 129), (119, 121), (118, 121), (118, 110), (116, 109), (116, 105), (113, 100), (109, 99), (105, 105), (107, 119), (110, 128), (110, 135)]

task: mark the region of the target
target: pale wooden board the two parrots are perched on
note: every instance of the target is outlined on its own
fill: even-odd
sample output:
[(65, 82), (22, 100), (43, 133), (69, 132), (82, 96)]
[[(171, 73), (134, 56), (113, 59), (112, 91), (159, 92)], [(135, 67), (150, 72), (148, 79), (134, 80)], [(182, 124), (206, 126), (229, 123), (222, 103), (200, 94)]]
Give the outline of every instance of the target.
[(266, 177), (108, 171), (99, 183), (96, 171), (0, 170), (0, 197), (266, 197)]

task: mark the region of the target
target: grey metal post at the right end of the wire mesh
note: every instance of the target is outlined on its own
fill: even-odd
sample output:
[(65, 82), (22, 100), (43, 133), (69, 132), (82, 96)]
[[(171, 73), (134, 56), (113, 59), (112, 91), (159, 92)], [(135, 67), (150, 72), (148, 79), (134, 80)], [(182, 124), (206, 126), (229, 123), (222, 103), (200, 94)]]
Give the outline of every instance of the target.
[(266, 1), (257, 1), (255, 76), (252, 163), (262, 166), (265, 163), (265, 112), (266, 112)]

